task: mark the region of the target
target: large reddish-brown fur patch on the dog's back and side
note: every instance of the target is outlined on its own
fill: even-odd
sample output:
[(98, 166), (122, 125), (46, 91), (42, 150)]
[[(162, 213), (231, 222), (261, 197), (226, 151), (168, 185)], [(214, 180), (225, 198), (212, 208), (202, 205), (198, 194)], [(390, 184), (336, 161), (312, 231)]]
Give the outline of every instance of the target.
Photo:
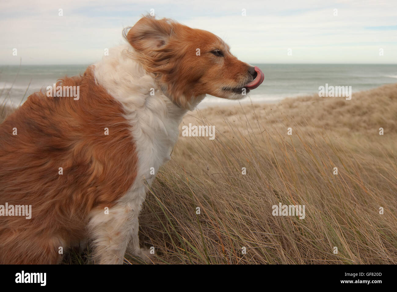
[(130, 125), (92, 69), (57, 85), (80, 86), (79, 100), (38, 92), (0, 125), (0, 204), (32, 205), (31, 219), (0, 217), (2, 264), (57, 263), (60, 246), (85, 237), (89, 211), (113, 206), (136, 177)]

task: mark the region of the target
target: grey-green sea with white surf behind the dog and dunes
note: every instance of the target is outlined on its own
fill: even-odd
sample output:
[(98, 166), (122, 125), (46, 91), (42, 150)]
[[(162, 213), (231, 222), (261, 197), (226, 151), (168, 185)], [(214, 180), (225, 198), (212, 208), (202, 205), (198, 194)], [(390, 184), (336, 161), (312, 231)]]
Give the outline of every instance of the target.
[[(277, 102), (285, 97), (318, 94), (318, 87), (352, 86), (352, 91), (367, 90), (388, 83), (397, 83), (397, 65), (378, 64), (255, 64), (265, 80), (242, 102)], [(32, 94), (46, 88), (65, 75), (83, 73), (87, 65), (0, 65), (0, 104), (18, 105)], [(30, 83), (30, 85), (29, 85)], [(29, 85), (29, 88), (28, 88)], [(23, 102), (22, 101), (22, 102)], [(238, 103), (212, 96), (200, 107)]]

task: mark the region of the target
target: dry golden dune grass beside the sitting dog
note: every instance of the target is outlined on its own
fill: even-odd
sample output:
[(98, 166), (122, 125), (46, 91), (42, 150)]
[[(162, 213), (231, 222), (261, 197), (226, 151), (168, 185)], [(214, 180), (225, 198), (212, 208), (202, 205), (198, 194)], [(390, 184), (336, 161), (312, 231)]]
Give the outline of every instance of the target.
[[(397, 263), (397, 84), (208, 108), (188, 123), (216, 136), (180, 136), (146, 197), (140, 238), (154, 263)], [(305, 205), (305, 218), (272, 216), (279, 202)]]

